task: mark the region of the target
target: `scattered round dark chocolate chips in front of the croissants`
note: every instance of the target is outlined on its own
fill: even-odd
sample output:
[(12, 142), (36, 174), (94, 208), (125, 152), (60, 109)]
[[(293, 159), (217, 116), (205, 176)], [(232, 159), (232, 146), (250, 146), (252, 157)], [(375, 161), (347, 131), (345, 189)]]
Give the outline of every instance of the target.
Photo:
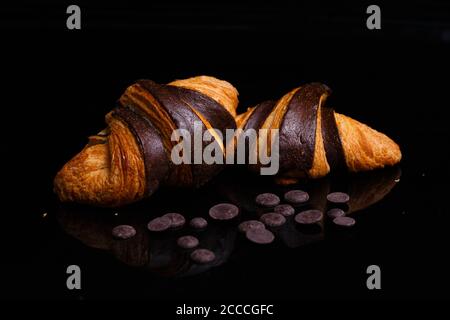
[[(309, 202), (309, 194), (302, 190), (290, 190), (283, 195), (287, 203), (281, 203), (280, 197), (274, 193), (262, 193), (255, 197), (256, 205), (262, 213), (259, 220), (245, 220), (237, 226), (239, 232), (256, 244), (269, 244), (275, 240), (275, 230), (282, 227), (287, 219), (293, 216), (293, 220), (299, 226), (316, 225), (323, 221), (324, 213), (317, 209), (306, 209), (304, 205)], [(345, 211), (340, 208), (350, 200), (344, 192), (332, 192), (327, 195), (329, 206), (333, 208), (326, 212), (326, 217), (337, 226), (351, 227), (355, 225), (353, 218), (347, 217)], [(303, 210), (299, 210), (303, 206)], [(233, 220), (239, 216), (240, 209), (231, 203), (219, 203), (209, 209), (209, 217), (218, 222)], [(186, 225), (185, 217), (176, 212), (166, 213), (148, 222), (147, 229), (152, 233), (160, 233), (167, 230), (179, 230)], [(203, 217), (192, 218), (188, 226), (194, 231), (208, 227), (208, 221)], [(276, 233), (276, 232), (275, 232)], [(136, 235), (136, 230), (130, 225), (118, 225), (113, 228), (112, 235), (116, 239), (129, 239)], [(190, 258), (198, 264), (210, 263), (215, 260), (215, 254), (211, 250), (200, 247), (197, 237), (186, 234), (177, 239), (178, 247), (184, 250), (192, 250)]]

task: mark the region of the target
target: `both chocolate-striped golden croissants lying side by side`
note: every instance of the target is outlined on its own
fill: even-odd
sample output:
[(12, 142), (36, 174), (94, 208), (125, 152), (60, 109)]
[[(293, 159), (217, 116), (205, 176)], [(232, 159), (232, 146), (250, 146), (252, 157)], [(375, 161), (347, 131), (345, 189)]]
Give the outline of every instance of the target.
[[(222, 133), (279, 129), (276, 179), (283, 184), (332, 170), (365, 171), (400, 161), (400, 149), (389, 137), (326, 107), (329, 94), (323, 84), (307, 84), (236, 115), (238, 92), (226, 81), (208, 76), (167, 85), (140, 80), (106, 115), (107, 128), (89, 137), (58, 172), (54, 190), (64, 202), (115, 207), (146, 198), (160, 186), (202, 185), (223, 165), (175, 165), (170, 158), (177, 143), (171, 139), (173, 130), (192, 132), (194, 122), (202, 130)], [(213, 139), (225, 143), (220, 135), (213, 134)]]

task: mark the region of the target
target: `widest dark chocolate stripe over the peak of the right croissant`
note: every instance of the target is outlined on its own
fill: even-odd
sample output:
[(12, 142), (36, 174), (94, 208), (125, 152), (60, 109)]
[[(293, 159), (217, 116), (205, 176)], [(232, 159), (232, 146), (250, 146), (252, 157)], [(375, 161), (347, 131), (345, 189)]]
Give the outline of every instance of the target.
[(311, 169), (320, 97), (329, 91), (320, 83), (307, 84), (289, 102), (280, 126), (280, 168), (283, 171)]

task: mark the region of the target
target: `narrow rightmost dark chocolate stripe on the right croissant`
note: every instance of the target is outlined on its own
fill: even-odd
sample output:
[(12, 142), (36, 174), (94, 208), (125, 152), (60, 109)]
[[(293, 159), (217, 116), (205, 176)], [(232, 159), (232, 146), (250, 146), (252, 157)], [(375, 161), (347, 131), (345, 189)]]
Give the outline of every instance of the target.
[(344, 149), (334, 117), (334, 110), (322, 107), (322, 138), (327, 161), (331, 170), (343, 170), (347, 167)]

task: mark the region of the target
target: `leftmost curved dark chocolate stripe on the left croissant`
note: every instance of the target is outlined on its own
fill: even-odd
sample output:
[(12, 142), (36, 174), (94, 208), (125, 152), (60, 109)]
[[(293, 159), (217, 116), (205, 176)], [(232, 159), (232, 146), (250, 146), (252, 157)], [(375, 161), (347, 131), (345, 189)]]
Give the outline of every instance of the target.
[(151, 122), (131, 106), (117, 107), (113, 116), (123, 120), (138, 140), (144, 158), (145, 193), (151, 195), (164, 181), (169, 170), (161, 137)]

